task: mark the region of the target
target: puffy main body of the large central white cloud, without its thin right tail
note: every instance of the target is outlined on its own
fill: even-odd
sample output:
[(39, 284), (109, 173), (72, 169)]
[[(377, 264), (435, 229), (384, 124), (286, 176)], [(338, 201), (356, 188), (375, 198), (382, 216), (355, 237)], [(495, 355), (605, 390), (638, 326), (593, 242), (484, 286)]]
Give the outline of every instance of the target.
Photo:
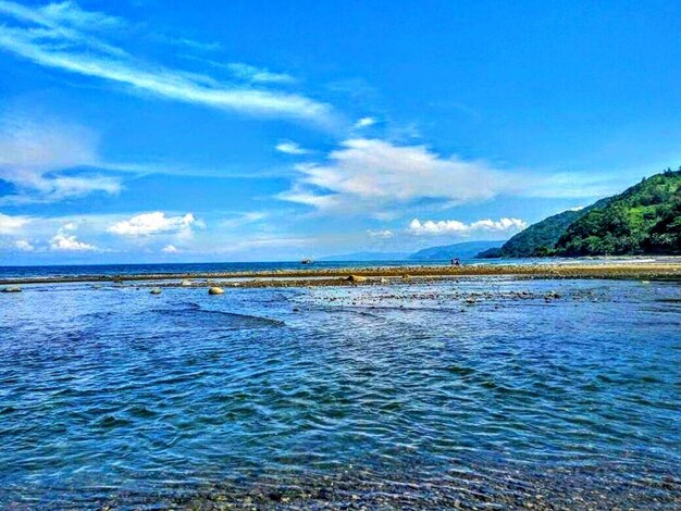
[(449, 205), (485, 200), (510, 182), (482, 161), (441, 158), (423, 146), (364, 138), (344, 141), (326, 162), (296, 170), (300, 177), (280, 198), (339, 213), (376, 213), (419, 200)]

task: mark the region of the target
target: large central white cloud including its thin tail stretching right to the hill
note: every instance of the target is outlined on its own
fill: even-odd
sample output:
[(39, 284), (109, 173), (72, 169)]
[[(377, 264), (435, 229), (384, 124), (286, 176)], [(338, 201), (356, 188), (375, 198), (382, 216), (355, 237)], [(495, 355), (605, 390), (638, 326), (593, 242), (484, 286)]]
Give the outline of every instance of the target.
[(325, 214), (389, 219), (406, 208), (448, 209), (500, 196), (606, 197), (619, 176), (499, 169), (484, 160), (442, 157), (425, 146), (376, 138), (340, 142), (324, 161), (295, 165), (297, 177), (282, 200)]

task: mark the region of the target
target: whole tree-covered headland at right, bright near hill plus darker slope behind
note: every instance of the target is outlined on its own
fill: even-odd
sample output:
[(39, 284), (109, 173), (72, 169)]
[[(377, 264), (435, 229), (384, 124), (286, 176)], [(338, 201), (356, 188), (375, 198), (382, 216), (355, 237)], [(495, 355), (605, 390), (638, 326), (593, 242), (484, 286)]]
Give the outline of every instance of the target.
[(681, 253), (681, 167), (579, 211), (549, 216), (479, 257)]

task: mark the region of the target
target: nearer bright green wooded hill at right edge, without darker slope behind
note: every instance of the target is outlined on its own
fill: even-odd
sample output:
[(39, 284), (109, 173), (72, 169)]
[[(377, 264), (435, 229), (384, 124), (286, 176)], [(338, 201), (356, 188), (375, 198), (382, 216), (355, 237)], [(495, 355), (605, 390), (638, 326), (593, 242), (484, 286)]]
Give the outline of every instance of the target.
[(681, 170), (643, 179), (569, 225), (558, 256), (681, 253)]

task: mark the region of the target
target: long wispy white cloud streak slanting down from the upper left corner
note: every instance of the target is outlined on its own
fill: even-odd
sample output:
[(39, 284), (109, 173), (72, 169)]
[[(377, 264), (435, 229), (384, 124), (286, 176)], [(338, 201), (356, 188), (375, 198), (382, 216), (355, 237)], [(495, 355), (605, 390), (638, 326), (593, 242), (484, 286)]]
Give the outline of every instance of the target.
[[(238, 87), (179, 70), (149, 64), (120, 48), (86, 34), (109, 17), (78, 9), (71, 2), (48, 14), (40, 8), (0, 2), (0, 13), (20, 23), (0, 25), (0, 48), (36, 64), (122, 84), (157, 97), (253, 115), (331, 122), (330, 105), (305, 96)], [(33, 26), (25, 26), (25, 24)]]

